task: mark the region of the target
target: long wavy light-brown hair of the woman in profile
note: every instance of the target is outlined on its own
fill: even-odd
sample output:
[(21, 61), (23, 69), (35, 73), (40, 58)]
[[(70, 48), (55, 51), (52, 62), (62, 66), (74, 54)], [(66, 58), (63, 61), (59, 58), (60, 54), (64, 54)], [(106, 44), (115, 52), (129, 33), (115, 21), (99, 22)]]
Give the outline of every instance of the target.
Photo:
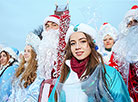
[(27, 88), (27, 86), (32, 84), (37, 76), (36, 75), (36, 70), (37, 70), (36, 56), (37, 55), (35, 51), (31, 49), (31, 59), (29, 60), (26, 68), (25, 68), (26, 61), (23, 57), (18, 69), (16, 70), (15, 76), (18, 78), (22, 74), (20, 82), (22, 82), (23, 80), (25, 81), (24, 82), (25, 88)]

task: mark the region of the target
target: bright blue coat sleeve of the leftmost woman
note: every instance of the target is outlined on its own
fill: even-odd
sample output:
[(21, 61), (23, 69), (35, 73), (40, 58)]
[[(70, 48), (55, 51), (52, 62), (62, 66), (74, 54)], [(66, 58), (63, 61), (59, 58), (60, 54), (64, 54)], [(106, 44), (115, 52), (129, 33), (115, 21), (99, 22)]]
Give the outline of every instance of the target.
[(7, 102), (12, 93), (11, 84), (17, 67), (18, 65), (8, 67), (0, 78), (0, 100), (2, 102)]

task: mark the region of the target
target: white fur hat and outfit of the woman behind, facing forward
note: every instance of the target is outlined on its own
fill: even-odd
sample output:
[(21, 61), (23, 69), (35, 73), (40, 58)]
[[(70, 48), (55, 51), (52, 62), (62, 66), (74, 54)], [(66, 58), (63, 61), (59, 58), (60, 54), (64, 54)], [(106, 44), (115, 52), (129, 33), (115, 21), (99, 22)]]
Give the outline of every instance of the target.
[(109, 36), (111, 36), (113, 38), (114, 43), (118, 40), (118, 32), (117, 32), (116, 28), (113, 27), (109, 23), (104, 23), (101, 26), (101, 28), (99, 30), (99, 33), (98, 33), (98, 36), (99, 36), (99, 39), (98, 39), (99, 42), (98, 42), (98, 44), (99, 44), (99, 47), (100, 47), (100, 49), (98, 51), (101, 53), (101, 55), (102, 55), (102, 57), (104, 59), (105, 64), (118, 69), (117, 66), (114, 65), (115, 64), (115, 62), (113, 61), (114, 53), (112, 51), (112, 48), (106, 49), (104, 47), (103, 40), (104, 40), (104, 37), (107, 36), (107, 35), (109, 35)]

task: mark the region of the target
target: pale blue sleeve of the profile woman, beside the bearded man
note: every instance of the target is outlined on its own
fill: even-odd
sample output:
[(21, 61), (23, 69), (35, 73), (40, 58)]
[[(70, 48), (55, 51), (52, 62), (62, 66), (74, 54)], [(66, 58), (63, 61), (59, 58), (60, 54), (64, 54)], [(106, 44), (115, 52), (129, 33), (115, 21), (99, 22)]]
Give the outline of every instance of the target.
[(29, 86), (28, 94), (23, 102), (38, 102), (40, 85), (44, 79), (37, 77), (35, 81)]

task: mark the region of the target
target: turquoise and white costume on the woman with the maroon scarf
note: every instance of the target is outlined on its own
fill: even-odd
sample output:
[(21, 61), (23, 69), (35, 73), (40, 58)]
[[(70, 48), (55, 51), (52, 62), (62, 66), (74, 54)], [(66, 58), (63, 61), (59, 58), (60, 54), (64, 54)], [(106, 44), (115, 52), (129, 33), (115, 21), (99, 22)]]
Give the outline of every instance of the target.
[[(70, 61), (66, 61), (66, 64), (70, 67)], [(102, 64), (81, 81), (70, 68), (64, 83), (60, 83), (58, 78), (48, 102), (55, 102), (55, 91), (58, 102), (130, 102), (128, 89), (119, 72), (107, 65), (105, 68), (107, 85), (103, 80)]]

